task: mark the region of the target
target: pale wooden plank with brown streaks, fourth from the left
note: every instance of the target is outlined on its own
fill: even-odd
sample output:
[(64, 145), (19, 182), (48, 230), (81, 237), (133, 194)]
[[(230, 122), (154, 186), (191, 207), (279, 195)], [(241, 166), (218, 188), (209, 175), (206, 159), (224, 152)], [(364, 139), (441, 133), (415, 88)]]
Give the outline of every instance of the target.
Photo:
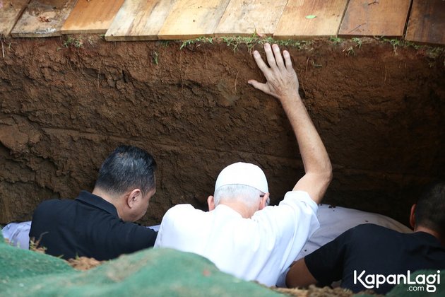
[(165, 18), (177, 0), (126, 0), (105, 40), (157, 40)]

